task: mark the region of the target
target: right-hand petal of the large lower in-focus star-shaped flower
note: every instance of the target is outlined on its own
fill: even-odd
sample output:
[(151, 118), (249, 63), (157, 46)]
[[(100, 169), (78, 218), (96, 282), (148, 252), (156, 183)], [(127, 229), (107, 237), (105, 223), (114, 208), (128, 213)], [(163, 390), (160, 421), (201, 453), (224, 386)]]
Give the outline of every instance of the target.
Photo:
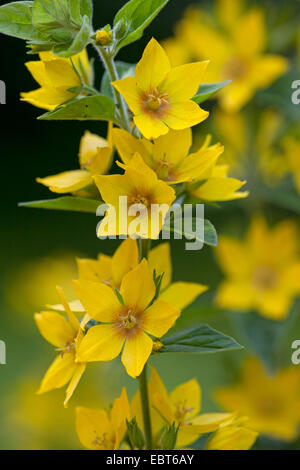
[(143, 329), (160, 338), (174, 325), (179, 315), (179, 308), (158, 299), (143, 313)]

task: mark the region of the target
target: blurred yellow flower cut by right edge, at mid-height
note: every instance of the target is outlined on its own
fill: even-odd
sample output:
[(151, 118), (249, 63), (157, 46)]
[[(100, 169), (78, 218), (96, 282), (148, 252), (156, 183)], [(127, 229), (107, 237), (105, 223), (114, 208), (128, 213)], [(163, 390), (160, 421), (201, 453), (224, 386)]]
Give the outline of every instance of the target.
[(233, 310), (257, 310), (273, 320), (283, 320), (300, 293), (300, 258), (297, 227), (283, 221), (269, 229), (255, 218), (244, 241), (220, 237), (216, 249), (227, 275), (217, 293), (217, 303)]

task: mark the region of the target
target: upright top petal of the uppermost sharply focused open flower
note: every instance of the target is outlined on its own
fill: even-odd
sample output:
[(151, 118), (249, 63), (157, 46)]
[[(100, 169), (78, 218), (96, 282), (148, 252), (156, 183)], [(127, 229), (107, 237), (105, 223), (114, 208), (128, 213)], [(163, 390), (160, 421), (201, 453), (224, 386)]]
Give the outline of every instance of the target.
[(138, 87), (144, 92), (153, 91), (170, 69), (171, 65), (164, 49), (152, 38), (136, 66), (135, 78)]

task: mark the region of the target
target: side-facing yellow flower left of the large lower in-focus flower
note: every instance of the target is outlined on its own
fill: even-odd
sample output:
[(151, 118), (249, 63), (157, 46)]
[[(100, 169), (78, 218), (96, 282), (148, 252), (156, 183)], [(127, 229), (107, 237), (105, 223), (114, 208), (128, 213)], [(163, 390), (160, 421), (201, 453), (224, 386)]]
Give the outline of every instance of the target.
[(35, 314), (35, 321), (41, 335), (59, 351), (57, 358), (46, 372), (38, 393), (61, 388), (69, 383), (64, 401), (64, 406), (67, 407), (86, 368), (84, 362), (75, 362), (76, 348), (82, 341), (83, 330), (66, 302), (62, 289), (60, 287), (56, 289), (68, 320), (57, 312)]

